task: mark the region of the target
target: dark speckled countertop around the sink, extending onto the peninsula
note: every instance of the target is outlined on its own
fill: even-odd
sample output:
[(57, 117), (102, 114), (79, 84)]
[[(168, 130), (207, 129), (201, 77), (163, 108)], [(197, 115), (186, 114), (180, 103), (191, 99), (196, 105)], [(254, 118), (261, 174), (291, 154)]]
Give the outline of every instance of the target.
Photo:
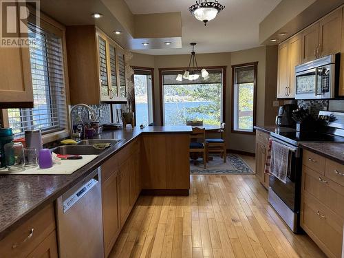
[(189, 126), (145, 127), (104, 131), (98, 138), (124, 139), (71, 175), (0, 175), (0, 240), (83, 180), (105, 160), (141, 133), (190, 133)]

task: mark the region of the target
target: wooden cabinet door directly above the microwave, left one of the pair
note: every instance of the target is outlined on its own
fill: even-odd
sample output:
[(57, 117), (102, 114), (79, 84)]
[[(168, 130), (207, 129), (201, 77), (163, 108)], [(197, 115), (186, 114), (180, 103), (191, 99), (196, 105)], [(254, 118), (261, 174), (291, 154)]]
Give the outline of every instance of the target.
[(319, 47), (319, 23), (315, 23), (310, 28), (301, 32), (302, 41), (302, 63), (312, 61), (318, 57)]

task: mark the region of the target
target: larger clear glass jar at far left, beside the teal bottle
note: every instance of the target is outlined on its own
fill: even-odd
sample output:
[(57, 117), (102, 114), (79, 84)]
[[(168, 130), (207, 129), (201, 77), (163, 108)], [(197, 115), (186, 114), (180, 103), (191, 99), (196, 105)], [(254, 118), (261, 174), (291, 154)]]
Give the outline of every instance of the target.
[(5, 144), (6, 166), (10, 171), (24, 170), (25, 155), (24, 147), (21, 142), (10, 142)]

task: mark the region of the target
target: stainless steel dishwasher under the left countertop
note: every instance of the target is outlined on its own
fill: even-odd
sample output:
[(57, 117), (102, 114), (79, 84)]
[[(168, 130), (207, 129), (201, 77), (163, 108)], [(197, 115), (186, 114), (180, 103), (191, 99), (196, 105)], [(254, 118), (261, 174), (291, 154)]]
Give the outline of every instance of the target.
[(103, 258), (100, 168), (58, 197), (56, 205), (60, 257)]

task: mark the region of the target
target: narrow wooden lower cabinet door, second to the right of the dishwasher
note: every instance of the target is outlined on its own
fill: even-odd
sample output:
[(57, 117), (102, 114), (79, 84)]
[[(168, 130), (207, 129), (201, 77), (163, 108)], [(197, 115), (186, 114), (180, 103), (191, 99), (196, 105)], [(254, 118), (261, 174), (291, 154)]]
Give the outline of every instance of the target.
[(119, 214), (120, 214), (120, 226), (125, 224), (130, 210), (130, 175), (129, 175), (129, 159), (125, 160), (120, 167), (120, 180), (118, 183), (118, 202), (119, 202)]

